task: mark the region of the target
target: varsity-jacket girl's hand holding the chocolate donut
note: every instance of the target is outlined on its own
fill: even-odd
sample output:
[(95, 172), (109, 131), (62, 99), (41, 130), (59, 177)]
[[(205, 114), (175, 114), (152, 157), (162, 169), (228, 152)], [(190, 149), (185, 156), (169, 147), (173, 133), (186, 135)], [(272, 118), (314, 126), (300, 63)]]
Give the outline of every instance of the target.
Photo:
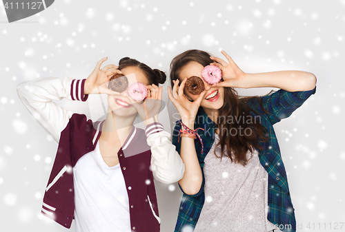
[(119, 94), (108, 89), (107, 85), (110, 77), (116, 73), (120, 74), (121, 71), (117, 70), (117, 65), (106, 65), (101, 69), (101, 64), (107, 59), (108, 57), (104, 57), (98, 61), (95, 70), (86, 78), (84, 94)]

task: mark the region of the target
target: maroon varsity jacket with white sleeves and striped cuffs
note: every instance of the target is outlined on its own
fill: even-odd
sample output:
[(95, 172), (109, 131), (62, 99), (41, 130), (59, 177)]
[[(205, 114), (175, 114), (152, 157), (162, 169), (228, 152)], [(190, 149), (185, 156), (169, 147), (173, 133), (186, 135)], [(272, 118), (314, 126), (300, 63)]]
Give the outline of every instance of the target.
[[(67, 111), (52, 100), (86, 101), (85, 80), (47, 77), (26, 81), (17, 87), (21, 101), (59, 143), (41, 213), (68, 229), (75, 211), (73, 167), (79, 158), (95, 149), (104, 120), (92, 122), (86, 115)], [(132, 231), (159, 231), (153, 177), (171, 183), (184, 175), (184, 164), (169, 137), (160, 123), (148, 125), (146, 131), (133, 126), (117, 153), (126, 182)], [(150, 184), (146, 180), (150, 180)]]

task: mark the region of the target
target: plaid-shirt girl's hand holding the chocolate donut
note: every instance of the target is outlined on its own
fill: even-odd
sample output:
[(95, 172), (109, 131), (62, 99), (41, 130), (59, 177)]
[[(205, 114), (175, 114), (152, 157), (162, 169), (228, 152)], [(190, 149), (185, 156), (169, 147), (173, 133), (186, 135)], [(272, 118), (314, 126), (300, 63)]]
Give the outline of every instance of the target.
[(170, 101), (175, 105), (177, 111), (179, 112), (179, 116), (181, 116), (182, 123), (187, 125), (190, 129), (194, 127), (194, 120), (197, 116), (197, 111), (200, 107), (200, 103), (206, 94), (206, 90), (201, 92), (197, 98), (197, 100), (190, 102), (184, 95), (184, 86), (186, 84), (187, 78), (179, 84), (179, 79), (174, 82), (174, 86), (172, 87), (172, 92), (170, 91), (170, 87), (168, 86), (168, 96)]

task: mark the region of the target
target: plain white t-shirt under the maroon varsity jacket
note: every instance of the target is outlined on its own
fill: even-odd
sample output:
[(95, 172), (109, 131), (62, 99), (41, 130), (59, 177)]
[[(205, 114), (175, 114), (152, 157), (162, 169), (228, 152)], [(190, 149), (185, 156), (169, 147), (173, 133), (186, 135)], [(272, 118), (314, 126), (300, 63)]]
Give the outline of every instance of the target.
[(99, 150), (73, 167), (76, 231), (130, 232), (128, 194), (119, 164), (109, 167)]

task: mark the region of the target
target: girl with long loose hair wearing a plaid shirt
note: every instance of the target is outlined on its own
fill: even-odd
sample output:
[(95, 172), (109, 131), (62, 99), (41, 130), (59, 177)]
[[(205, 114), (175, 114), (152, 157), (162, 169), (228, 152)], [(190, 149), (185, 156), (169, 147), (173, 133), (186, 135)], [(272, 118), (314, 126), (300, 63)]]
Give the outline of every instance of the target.
[[(315, 75), (302, 71), (248, 74), (226, 52), (221, 53), (227, 61), (188, 50), (170, 64), (173, 87), (168, 87), (168, 96), (181, 116), (172, 143), (186, 167), (179, 180), (184, 196), (175, 231), (295, 231), (273, 124), (315, 93)], [(219, 83), (210, 85), (201, 76), (206, 65), (220, 68)], [(203, 81), (201, 94), (185, 89), (191, 76)], [(239, 98), (235, 87), (279, 90)], [(204, 131), (198, 129), (200, 138), (193, 139), (198, 127)]]

